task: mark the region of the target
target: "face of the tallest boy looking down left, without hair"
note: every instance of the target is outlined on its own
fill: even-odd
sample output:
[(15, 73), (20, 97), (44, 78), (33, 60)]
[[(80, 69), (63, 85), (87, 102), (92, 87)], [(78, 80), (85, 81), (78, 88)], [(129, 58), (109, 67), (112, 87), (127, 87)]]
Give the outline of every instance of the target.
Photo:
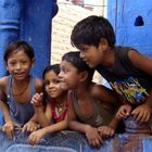
[(94, 46), (84, 45), (80, 49), (80, 58), (93, 68), (101, 63), (102, 53)]

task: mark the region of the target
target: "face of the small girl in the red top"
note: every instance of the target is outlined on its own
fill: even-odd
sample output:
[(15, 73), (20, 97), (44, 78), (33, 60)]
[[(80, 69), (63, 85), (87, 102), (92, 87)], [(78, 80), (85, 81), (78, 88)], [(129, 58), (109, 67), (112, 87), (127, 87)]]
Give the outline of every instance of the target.
[(53, 72), (49, 71), (45, 75), (45, 88), (47, 93), (51, 98), (58, 98), (63, 93), (63, 90), (60, 86), (59, 76)]

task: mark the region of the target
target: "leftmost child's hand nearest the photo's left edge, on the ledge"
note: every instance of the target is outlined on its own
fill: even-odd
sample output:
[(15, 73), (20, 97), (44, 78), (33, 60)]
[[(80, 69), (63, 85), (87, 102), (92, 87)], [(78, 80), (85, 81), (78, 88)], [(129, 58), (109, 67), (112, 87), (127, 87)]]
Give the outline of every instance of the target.
[(2, 127), (2, 131), (4, 131), (8, 136), (9, 139), (13, 139), (14, 137), (14, 127), (20, 127), (18, 124), (12, 122), (12, 121), (9, 121), (7, 122), (3, 127)]

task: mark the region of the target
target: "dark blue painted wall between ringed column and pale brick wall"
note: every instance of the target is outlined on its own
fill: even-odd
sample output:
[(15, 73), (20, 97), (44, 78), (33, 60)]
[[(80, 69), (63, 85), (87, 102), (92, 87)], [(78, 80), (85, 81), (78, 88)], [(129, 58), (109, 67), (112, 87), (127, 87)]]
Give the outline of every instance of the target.
[[(54, 8), (54, 9), (53, 9)], [(58, 11), (52, 0), (25, 0), (21, 22), (21, 39), (34, 46), (36, 64), (33, 73), (41, 77), (50, 64), (52, 15)]]

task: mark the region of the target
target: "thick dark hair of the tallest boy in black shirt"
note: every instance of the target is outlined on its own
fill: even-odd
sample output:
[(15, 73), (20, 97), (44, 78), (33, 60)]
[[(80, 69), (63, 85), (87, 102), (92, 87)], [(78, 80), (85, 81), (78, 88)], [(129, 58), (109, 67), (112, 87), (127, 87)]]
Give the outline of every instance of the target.
[(110, 47), (115, 45), (115, 34), (111, 23), (103, 16), (91, 15), (78, 22), (71, 35), (72, 46), (80, 49), (81, 45), (99, 47), (105, 38)]

